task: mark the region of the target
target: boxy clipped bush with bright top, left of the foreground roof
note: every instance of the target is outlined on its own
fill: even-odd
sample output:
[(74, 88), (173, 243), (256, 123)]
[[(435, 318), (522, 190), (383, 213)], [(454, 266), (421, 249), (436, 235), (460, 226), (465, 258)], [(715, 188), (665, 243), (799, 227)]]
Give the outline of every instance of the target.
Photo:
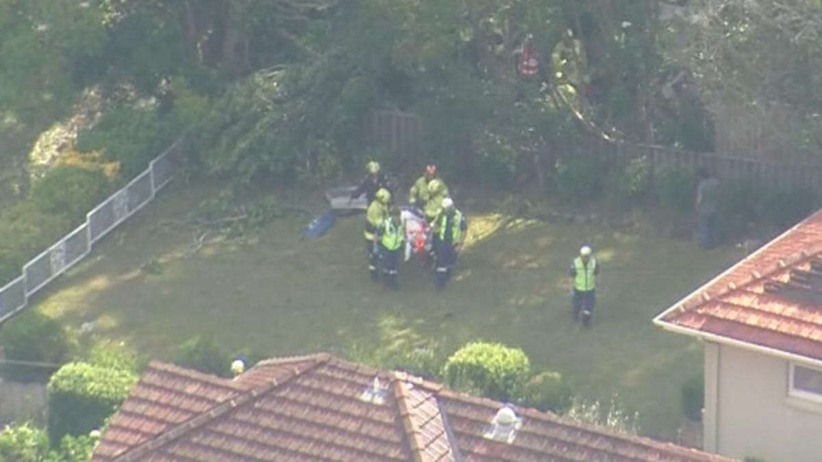
[(48, 440), (101, 427), (126, 399), (136, 374), (89, 363), (68, 363), (48, 381)]

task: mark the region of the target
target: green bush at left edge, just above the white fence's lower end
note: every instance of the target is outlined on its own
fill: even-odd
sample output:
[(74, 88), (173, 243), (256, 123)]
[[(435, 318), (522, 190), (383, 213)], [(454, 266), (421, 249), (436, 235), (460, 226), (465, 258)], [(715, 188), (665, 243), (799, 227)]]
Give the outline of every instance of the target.
[(0, 286), (21, 275), (23, 265), (71, 230), (68, 219), (25, 201), (0, 212)]

